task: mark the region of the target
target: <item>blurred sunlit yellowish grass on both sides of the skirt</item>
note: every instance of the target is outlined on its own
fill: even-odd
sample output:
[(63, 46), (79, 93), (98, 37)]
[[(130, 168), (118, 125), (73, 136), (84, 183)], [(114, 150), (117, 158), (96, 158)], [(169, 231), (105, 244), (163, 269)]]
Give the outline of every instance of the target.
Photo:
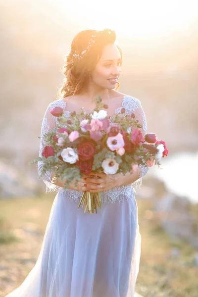
[[(36, 263), (53, 199), (47, 194), (0, 200), (0, 297), (19, 286)], [(152, 200), (137, 203), (142, 251), (136, 291), (144, 297), (197, 297), (197, 250), (166, 234)]]

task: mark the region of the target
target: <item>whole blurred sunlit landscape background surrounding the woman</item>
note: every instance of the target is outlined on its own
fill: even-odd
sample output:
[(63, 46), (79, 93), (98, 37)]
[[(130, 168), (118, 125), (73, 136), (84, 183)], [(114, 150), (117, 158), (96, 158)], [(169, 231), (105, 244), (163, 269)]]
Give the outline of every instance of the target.
[(36, 263), (54, 193), (36, 165), (42, 119), (58, 99), (70, 43), (116, 31), (119, 92), (142, 102), (148, 132), (169, 149), (136, 198), (142, 234), (137, 292), (198, 296), (198, 2), (1, 0), (0, 297)]

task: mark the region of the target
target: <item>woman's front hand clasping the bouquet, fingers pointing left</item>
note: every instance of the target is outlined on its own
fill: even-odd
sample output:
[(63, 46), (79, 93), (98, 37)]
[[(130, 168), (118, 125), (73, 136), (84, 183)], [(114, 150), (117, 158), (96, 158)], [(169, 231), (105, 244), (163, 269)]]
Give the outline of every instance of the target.
[(119, 187), (119, 173), (118, 174), (105, 174), (105, 173), (96, 173), (94, 176), (93, 173), (86, 176), (85, 182), (87, 184), (86, 191), (90, 193), (104, 192), (108, 191), (114, 187)]

